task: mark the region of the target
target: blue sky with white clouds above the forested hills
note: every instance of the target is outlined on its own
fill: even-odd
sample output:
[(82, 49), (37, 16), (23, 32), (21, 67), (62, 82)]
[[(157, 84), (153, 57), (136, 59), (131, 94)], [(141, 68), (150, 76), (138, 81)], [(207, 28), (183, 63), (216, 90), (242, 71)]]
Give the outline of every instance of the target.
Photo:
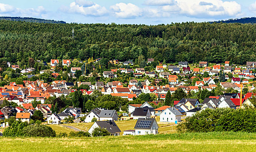
[(0, 0), (0, 16), (67, 23), (204, 22), (256, 17), (256, 0)]

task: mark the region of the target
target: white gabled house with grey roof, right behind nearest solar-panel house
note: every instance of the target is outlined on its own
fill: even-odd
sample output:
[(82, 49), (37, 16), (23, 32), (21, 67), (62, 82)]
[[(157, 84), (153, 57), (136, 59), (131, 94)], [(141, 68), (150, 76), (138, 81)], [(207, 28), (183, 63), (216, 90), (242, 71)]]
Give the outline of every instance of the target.
[(180, 122), (182, 114), (179, 110), (172, 108), (166, 108), (160, 113), (160, 122)]

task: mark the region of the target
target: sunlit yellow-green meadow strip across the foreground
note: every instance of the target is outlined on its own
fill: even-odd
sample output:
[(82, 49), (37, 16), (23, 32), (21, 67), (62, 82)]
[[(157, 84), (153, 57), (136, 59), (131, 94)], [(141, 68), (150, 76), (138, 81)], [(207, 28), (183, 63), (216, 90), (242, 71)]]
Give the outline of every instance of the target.
[(1, 152), (254, 152), (256, 134), (210, 132), (88, 138), (4, 138)]

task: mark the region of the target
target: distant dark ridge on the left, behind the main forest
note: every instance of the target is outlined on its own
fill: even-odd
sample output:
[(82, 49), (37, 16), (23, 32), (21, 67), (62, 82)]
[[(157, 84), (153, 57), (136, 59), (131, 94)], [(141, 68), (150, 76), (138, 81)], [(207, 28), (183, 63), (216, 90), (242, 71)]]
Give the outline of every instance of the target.
[(44, 20), (32, 17), (0, 17), (0, 20), (25, 21), (34, 23), (66, 23), (64, 21)]

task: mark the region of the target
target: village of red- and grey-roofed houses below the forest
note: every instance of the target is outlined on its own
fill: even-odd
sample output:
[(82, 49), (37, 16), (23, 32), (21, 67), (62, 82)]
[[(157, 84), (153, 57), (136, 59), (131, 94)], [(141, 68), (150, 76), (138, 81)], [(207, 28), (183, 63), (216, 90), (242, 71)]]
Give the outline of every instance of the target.
[[(121, 132), (122, 135), (146, 135), (158, 134), (159, 123), (176, 125), (186, 117), (208, 108), (239, 109), (254, 106), (252, 100), (256, 93), (256, 62), (247, 62), (246, 66), (243, 66), (232, 65), (229, 61), (223, 64), (168, 64), (155, 62), (154, 59), (147, 59), (147, 62), (143, 60), (141, 63), (110, 60), (108, 64), (111, 68), (108, 71), (96, 73), (96, 69), (101, 68), (101, 65), (98, 66), (100, 60), (91, 59), (87, 63), (79, 61), (81, 63), (77, 65), (82, 65), (81, 67), (71, 67), (70, 59), (51, 59), (51, 63), (43, 63), (46, 68), (41, 71), (33, 67), (22, 69), (19, 65), (11, 65), (8, 62), (9, 69), (19, 71), (20, 76), (27, 77), (27, 80), (22, 80), (22, 84), (8, 82), (0, 87), (1, 127), (8, 127), (5, 119), (11, 117), (30, 122), (34, 112), (39, 110), (44, 116), (41, 122), (47, 122), (44, 124), (61, 125), (68, 123), (72, 118), (71, 122), (73, 119), (81, 123), (94, 122), (88, 128), (89, 133), (94, 128), (101, 127), (107, 129), (111, 135), (121, 135)], [(60, 70), (56, 70), (59, 64), (62, 64), (63, 69), (70, 69), (68, 77), (72, 79), (69, 80), (75, 81), (61, 79), (57, 73)], [(86, 74), (86, 66), (91, 68), (91, 73)], [(50, 73), (50, 81), (35, 79), (45, 73)], [(7, 77), (3, 79), (7, 80)], [(81, 77), (92, 77), (96, 81), (79, 81)], [(81, 86), (84, 88), (81, 89)], [(47, 102), (51, 97), (67, 97), (78, 91), (81, 91), (83, 96), (101, 93), (120, 97), (127, 102), (127, 107), (93, 107), (90, 111), (84, 111), (83, 107), (68, 106), (53, 112), (56, 105)], [(180, 96), (179, 91), (184, 93), (184, 96)], [(150, 99), (142, 97), (146, 94), (150, 95)], [(134, 119), (136, 124), (133, 129), (121, 130), (116, 124), (119, 121), (128, 122)]]

